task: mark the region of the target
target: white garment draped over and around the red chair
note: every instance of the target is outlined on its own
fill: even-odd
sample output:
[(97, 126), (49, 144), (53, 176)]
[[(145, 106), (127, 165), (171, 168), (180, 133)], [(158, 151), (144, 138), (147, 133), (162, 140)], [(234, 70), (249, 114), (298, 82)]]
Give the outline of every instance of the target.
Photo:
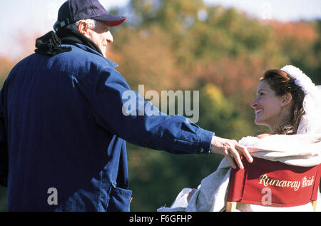
[[(269, 135), (263, 139), (246, 137), (239, 141), (245, 145), (253, 157), (280, 161), (287, 165), (314, 166), (321, 163), (320, 135)], [(225, 210), (230, 180), (230, 163), (225, 158), (218, 169), (204, 178), (198, 190), (187, 202), (190, 189), (183, 189), (171, 207), (161, 207), (158, 212), (216, 212)], [(320, 192), (318, 194), (317, 211), (321, 210)], [(310, 203), (298, 207), (270, 207), (263, 205), (241, 204), (239, 211), (312, 211)]]

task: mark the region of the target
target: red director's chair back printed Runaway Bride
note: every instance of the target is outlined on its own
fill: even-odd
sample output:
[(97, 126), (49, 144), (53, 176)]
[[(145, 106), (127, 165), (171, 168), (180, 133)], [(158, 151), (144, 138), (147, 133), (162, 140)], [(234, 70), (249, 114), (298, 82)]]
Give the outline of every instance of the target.
[(253, 158), (244, 169), (232, 169), (225, 211), (238, 202), (276, 207), (293, 207), (312, 202), (316, 210), (321, 165), (300, 167)]

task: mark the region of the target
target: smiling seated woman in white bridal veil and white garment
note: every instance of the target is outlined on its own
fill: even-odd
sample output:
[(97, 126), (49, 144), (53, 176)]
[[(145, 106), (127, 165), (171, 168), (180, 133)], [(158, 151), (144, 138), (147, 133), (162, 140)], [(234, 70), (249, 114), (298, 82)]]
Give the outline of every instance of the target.
[[(266, 125), (272, 130), (272, 134), (258, 135), (257, 137), (247, 136), (239, 140), (238, 143), (247, 147), (251, 155), (256, 157), (253, 161), (254, 164), (258, 163), (257, 161), (261, 158), (299, 167), (320, 165), (321, 87), (315, 86), (299, 68), (287, 65), (280, 70), (266, 71), (263, 78), (260, 78), (257, 96), (252, 107), (255, 108), (255, 123)], [(260, 168), (265, 167), (256, 165), (253, 170), (260, 170)], [(272, 170), (275, 169), (271, 168), (267, 171), (270, 173)], [(280, 173), (280, 169), (275, 171)], [(233, 183), (230, 172), (230, 163), (224, 158), (215, 172), (201, 180), (198, 189), (184, 188), (170, 208), (161, 207), (158, 211), (207, 212), (225, 210), (228, 188)], [(236, 172), (242, 171), (238, 169)], [(264, 188), (274, 186), (291, 188), (296, 191), (299, 188), (311, 186), (317, 178), (317, 176), (305, 175), (302, 180), (297, 180), (293, 176), (283, 180), (271, 177), (268, 173), (258, 175), (256, 178), (258, 184), (264, 185)], [(250, 178), (255, 180), (252, 175)], [(241, 193), (248, 188), (245, 186)], [(254, 188), (261, 189), (260, 185), (255, 185)], [(265, 194), (264, 190), (262, 190), (262, 194)], [(318, 199), (320, 199), (320, 192), (318, 195)], [(262, 202), (257, 202), (255, 205), (243, 203), (243, 206), (238, 206), (237, 210), (283, 211), (285, 209), (280, 208), (287, 208), (285, 211), (312, 211), (310, 202), (287, 207), (267, 206), (270, 204), (266, 203), (263, 199)], [(319, 208), (316, 207), (317, 211), (320, 211)]]

